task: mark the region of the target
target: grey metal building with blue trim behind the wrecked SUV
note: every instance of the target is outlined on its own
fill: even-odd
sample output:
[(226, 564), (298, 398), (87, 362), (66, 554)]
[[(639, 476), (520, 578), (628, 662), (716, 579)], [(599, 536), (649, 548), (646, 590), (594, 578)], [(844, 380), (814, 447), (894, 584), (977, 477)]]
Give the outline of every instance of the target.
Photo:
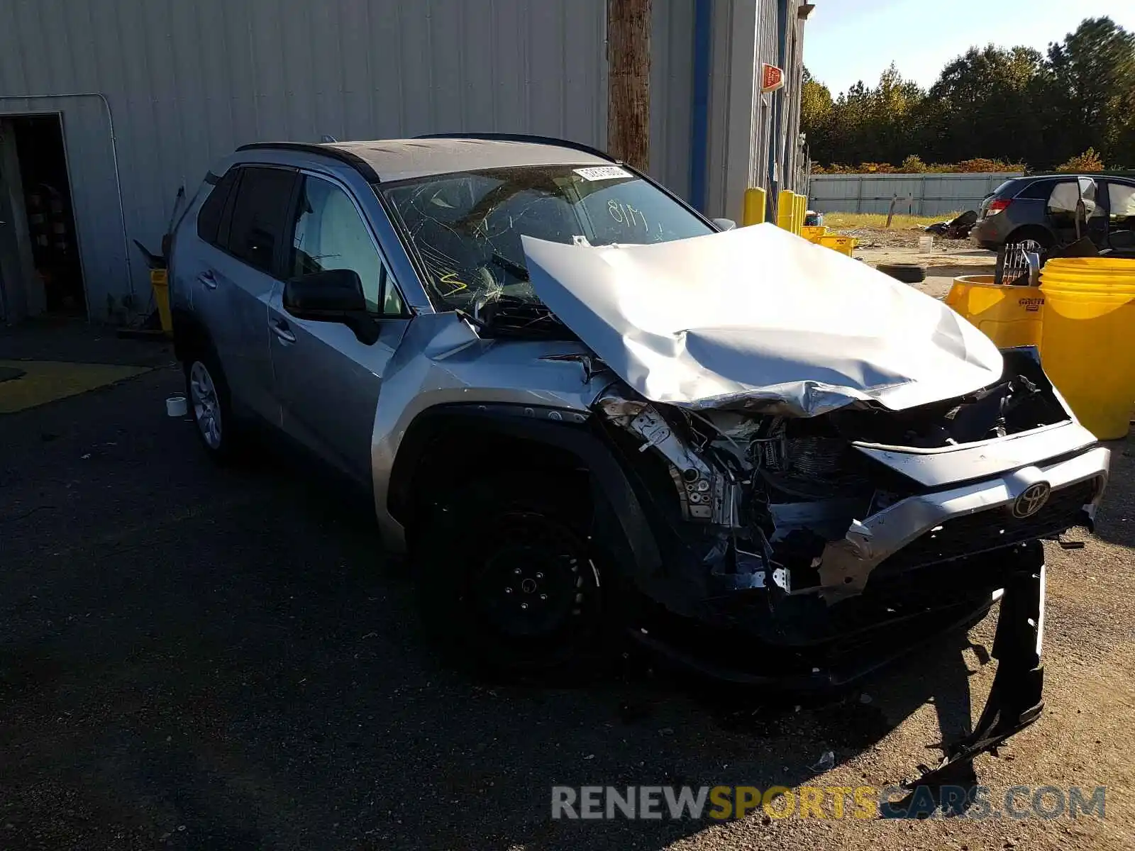
[[(650, 172), (712, 216), (796, 188), (800, 0), (654, 0)], [(604, 148), (605, 0), (0, 3), (0, 321), (150, 310), (209, 165), (255, 141), (531, 133)], [(762, 66), (785, 85), (762, 93)]]

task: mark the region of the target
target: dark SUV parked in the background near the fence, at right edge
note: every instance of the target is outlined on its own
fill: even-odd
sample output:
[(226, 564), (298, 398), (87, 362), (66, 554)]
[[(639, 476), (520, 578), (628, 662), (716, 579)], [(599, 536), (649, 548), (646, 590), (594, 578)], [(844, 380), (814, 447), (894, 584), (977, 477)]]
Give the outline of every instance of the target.
[(1135, 256), (1135, 176), (1033, 175), (1006, 180), (982, 202), (970, 238), (991, 251), (1034, 241), (1048, 252), (1076, 241), (1081, 202), (1081, 235), (1101, 251)]

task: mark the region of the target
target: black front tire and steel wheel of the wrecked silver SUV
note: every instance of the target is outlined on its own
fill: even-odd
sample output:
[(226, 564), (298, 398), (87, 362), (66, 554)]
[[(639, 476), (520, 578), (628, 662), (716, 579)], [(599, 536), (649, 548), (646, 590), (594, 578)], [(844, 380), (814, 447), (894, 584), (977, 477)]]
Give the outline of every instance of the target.
[(459, 487), (413, 542), (422, 621), (443, 656), (490, 679), (578, 679), (602, 667), (608, 589), (586, 495), (552, 475)]

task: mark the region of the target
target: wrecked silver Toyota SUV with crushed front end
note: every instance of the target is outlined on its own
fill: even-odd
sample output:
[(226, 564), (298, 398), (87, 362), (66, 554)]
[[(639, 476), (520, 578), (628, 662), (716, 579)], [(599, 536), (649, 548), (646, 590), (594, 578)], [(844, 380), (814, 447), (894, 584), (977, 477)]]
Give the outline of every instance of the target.
[(247, 145), (169, 254), (208, 452), (268, 422), (363, 483), (466, 658), (587, 665), (616, 625), (827, 688), (1000, 597), (950, 757), (1039, 714), (1039, 541), (1091, 528), (1109, 454), (1035, 351), (532, 137)]

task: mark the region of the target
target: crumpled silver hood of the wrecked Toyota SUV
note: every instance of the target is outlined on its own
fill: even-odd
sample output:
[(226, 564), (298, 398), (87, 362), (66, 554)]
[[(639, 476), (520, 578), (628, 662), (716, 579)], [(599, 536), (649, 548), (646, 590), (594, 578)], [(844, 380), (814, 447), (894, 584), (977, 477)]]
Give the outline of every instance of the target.
[(914, 407), (1001, 376), (993, 343), (941, 302), (773, 225), (523, 244), (537, 295), (651, 402), (815, 416)]

